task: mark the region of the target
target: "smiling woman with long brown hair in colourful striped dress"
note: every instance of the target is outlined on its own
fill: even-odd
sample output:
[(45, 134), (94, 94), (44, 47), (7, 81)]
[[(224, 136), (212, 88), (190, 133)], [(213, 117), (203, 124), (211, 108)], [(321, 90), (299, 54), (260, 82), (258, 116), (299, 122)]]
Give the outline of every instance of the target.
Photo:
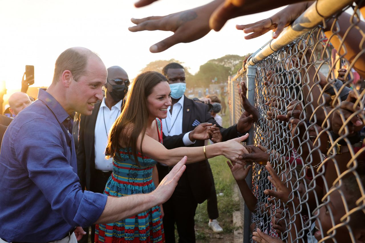
[[(115, 121), (106, 148), (113, 157), (113, 173), (104, 190), (123, 197), (150, 193), (158, 185), (156, 161), (175, 165), (187, 155), (187, 163), (224, 155), (232, 161), (247, 153), (239, 143), (248, 135), (205, 147), (162, 145), (161, 120), (171, 105), (170, 86), (161, 73), (145, 72), (135, 78), (122, 114)], [(118, 209), (116, 209), (118, 210)], [(164, 242), (162, 210), (159, 205), (112, 224), (96, 225), (95, 242)]]

